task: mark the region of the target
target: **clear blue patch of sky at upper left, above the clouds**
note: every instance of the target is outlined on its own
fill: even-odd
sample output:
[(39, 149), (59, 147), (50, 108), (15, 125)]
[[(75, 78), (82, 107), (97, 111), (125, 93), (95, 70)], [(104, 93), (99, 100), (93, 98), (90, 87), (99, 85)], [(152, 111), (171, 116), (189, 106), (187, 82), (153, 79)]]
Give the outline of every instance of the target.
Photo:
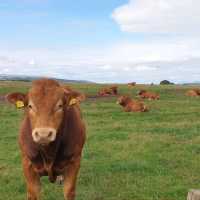
[(2, 42), (18, 46), (101, 45), (123, 37), (111, 19), (124, 0), (15, 0), (0, 3)]

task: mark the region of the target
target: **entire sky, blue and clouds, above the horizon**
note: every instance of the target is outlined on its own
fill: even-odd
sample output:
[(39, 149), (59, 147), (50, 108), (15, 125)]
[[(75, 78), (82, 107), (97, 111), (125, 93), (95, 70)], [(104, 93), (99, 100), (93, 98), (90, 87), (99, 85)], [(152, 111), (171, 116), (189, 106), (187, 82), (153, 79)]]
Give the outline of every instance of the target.
[(200, 81), (199, 0), (0, 0), (0, 74)]

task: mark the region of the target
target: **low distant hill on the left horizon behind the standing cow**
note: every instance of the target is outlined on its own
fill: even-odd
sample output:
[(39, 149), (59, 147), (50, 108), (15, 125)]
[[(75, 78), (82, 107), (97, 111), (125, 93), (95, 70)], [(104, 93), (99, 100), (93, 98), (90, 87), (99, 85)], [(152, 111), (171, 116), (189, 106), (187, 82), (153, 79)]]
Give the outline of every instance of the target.
[[(39, 76), (26, 76), (26, 75), (5, 75), (5, 74), (0, 74), (0, 81), (25, 81), (25, 82), (30, 82), (33, 80), (40, 79), (42, 77)], [(54, 80), (64, 82), (64, 83), (92, 83), (90, 81), (85, 81), (85, 80), (69, 80), (69, 79), (59, 79), (59, 78), (54, 78), (54, 77), (48, 77), (52, 78)]]

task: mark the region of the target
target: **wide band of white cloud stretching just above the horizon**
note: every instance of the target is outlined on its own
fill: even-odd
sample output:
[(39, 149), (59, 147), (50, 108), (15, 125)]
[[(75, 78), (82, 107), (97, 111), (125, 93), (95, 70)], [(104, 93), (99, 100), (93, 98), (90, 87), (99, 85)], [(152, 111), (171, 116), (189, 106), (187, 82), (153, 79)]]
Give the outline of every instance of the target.
[[(97, 82), (189, 82), (200, 79), (200, 40), (119, 42), (107, 47), (0, 50), (0, 73)], [(37, 61), (37, 62), (36, 62)], [(33, 65), (34, 64), (34, 65)]]

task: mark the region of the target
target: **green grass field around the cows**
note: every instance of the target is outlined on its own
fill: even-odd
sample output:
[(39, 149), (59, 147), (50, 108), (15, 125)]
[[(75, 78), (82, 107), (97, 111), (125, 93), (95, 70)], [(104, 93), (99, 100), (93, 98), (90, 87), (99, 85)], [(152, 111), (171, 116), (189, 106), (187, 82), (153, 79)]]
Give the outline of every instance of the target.
[[(1, 82), (0, 95), (27, 91), (29, 83)], [(101, 85), (73, 84), (94, 95)], [(200, 99), (184, 96), (186, 86), (137, 86), (160, 93), (145, 101), (149, 113), (124, 113), (116, 98), (82, 104), (87, 143), (77, 185), (77, 200), (184, 200), (200, 188)], [(23, 111), (0, 103), (0, 200), (25, 199), (18, 127)], [(43, 200), (62, 200), (62, 187), (42, 178)]]

